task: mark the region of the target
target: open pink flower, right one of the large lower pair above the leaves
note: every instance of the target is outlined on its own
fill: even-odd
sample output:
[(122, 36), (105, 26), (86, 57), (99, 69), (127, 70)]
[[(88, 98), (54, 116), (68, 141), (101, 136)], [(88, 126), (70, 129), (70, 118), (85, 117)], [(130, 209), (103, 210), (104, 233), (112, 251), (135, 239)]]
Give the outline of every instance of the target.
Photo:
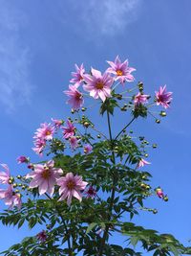
[(79, 201), (82, 200), (81, 190), (84, 190), (88, 182), (82, 181), (82, 177), (79, 175), (73, 175), (73, 173), (68, 173), (64, 177), (60, 177), (57, 180), (57, 185), (59, 188), (59, 200), (64, 200), (67, 198), (67, 204), (70, 206), (72, 198), (77, 198)]

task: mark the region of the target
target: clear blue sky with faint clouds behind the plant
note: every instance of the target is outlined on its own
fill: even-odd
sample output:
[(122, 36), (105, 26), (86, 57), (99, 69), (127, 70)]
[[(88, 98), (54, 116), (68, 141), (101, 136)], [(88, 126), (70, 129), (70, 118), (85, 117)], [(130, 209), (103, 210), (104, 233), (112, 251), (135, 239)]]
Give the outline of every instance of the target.
[[(104, 70), (105, 60), (117, 55), (128, 58), (146, 93), (165, 83), (174, 93), (160, 125), (150, 118), (133, 126), (137, 134), (158, 143), (149, 157), (149, 171), (154, 186), (161, 185), (170, 198), (168, 203), (151, 200), (159, 214), (143, 213), (137, 222), (187, 243), (191, 238), (190, 9), (188, 0), (2, 0), (0, 162), (9, 164), (12, 174), (25, 174), (16, 157), (26, 154), (37, 159), (31, 150), (34, 130), (51, 117), (66, 118), (70, 113), (62, 91), (68, 87), (74, 63)], [(114, 124), (117, 128), (118, 121)], [(0, 225), (0, 230), (4, 234), (0, 250), (27, 234), (27, 228), (18, 231)]]

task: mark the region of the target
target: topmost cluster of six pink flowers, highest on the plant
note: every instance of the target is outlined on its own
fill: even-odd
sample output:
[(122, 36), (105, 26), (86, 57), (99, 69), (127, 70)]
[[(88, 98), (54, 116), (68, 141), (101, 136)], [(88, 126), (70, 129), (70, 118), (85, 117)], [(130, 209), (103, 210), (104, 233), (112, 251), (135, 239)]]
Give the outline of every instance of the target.
[[(83, 64), (78, 67), (75, 64), (75, 72), (72, 73), (74, 77), (70, 82), (69, 90), (65, 90), (64, 93), (69, 97), (68, 104), (72, 106), (74, 110), (78, 110), (84, 105), (84, 96), (79, 91), (80, 85), (85, 92), (90, 93), (90, 96), (94, 99), (100, 99), (103, 103), (107, 98), (111, 98), (114, 95), (114, 91), (117, 88), (118, 83), (124, 85), (124, 83), (135, 81), (132, 72), (136, 71), (135, 68), (129, 66), (129, 62), (126, 59), (124, 62), (117, 56), (115, 61), (107, 61), (110, 65), (103, 74), (95, 68), (91, 68), (90, 74), (85, 73)], [(142, 89), (139, 89), (137, 95), (132, 97), (134, 100), (134, 107), (145, 105), (148, 103), (149, 95), (143, 94)], [(156, 91), (155, 102), (157, 105), (161, 105), (168, 108), (172, 101), (172, 92), (166, 91), (166, 85), (159, 87), (159, 91)]]

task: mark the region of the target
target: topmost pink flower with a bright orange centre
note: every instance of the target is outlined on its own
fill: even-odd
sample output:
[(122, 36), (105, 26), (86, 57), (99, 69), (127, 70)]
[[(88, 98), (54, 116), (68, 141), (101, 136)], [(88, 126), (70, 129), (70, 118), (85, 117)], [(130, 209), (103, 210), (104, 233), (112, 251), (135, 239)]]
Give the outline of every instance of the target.
[(106, 72), (114, 74), (117, 76), (116, 80), (119, 80), (121, 83), (124, 81), (134, 81), (135, 78), (131, 73), (136, 69), (133, 67), (128, 66), (128, 60), (126, 59), (124, 62), (120, 61), (120, 58), (115, 59), (115, 61), (107, 61), (108, 64), (111, 66), (109, 67)]

